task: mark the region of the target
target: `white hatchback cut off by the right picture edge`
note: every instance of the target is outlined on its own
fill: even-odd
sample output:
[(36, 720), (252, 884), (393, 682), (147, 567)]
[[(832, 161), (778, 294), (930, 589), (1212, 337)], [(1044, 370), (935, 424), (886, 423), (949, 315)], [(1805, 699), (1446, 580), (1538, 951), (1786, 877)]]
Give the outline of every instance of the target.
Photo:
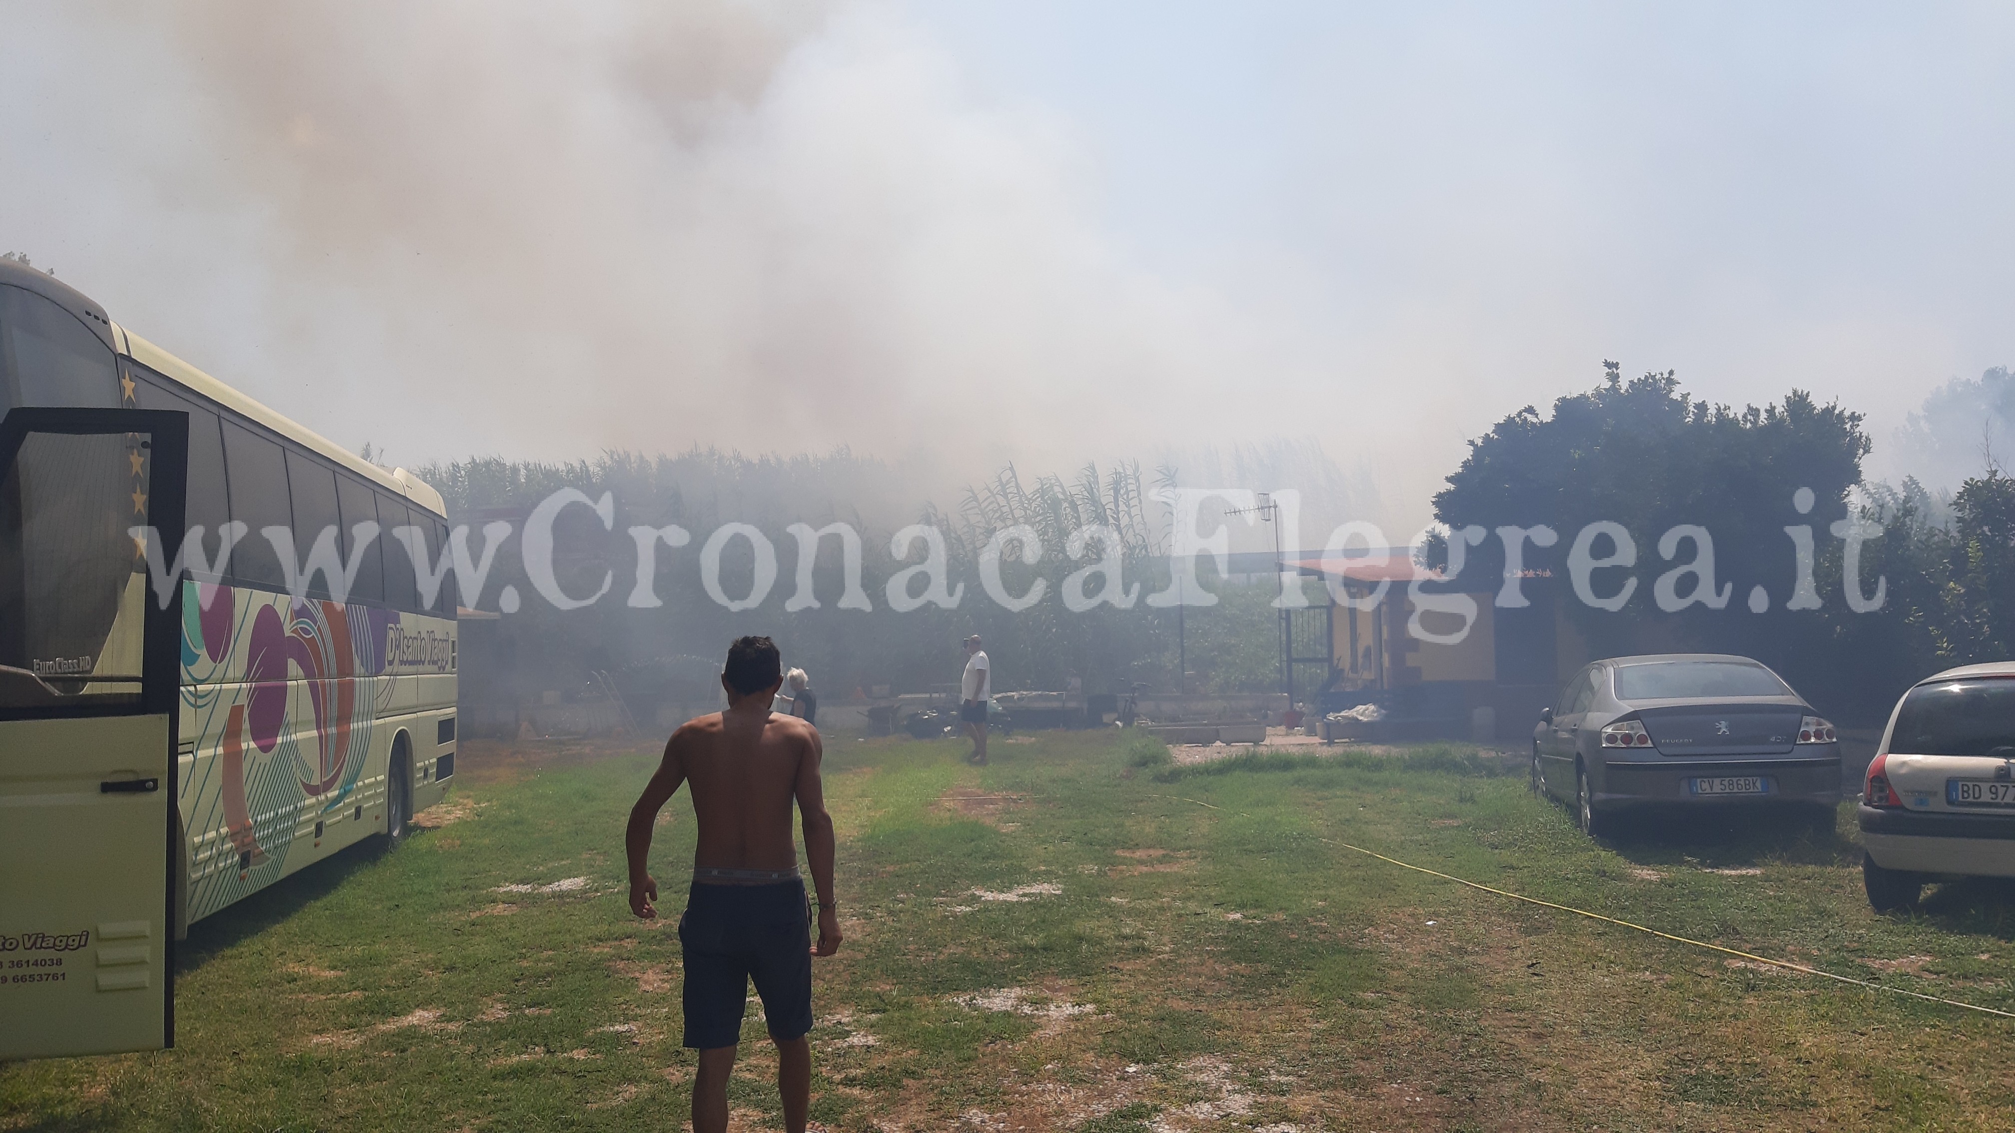
[(1896, 702), (1858, 808), (1876, 909), (1926, 881), (2015, 877), (2015, 663), (1965, 665)]

